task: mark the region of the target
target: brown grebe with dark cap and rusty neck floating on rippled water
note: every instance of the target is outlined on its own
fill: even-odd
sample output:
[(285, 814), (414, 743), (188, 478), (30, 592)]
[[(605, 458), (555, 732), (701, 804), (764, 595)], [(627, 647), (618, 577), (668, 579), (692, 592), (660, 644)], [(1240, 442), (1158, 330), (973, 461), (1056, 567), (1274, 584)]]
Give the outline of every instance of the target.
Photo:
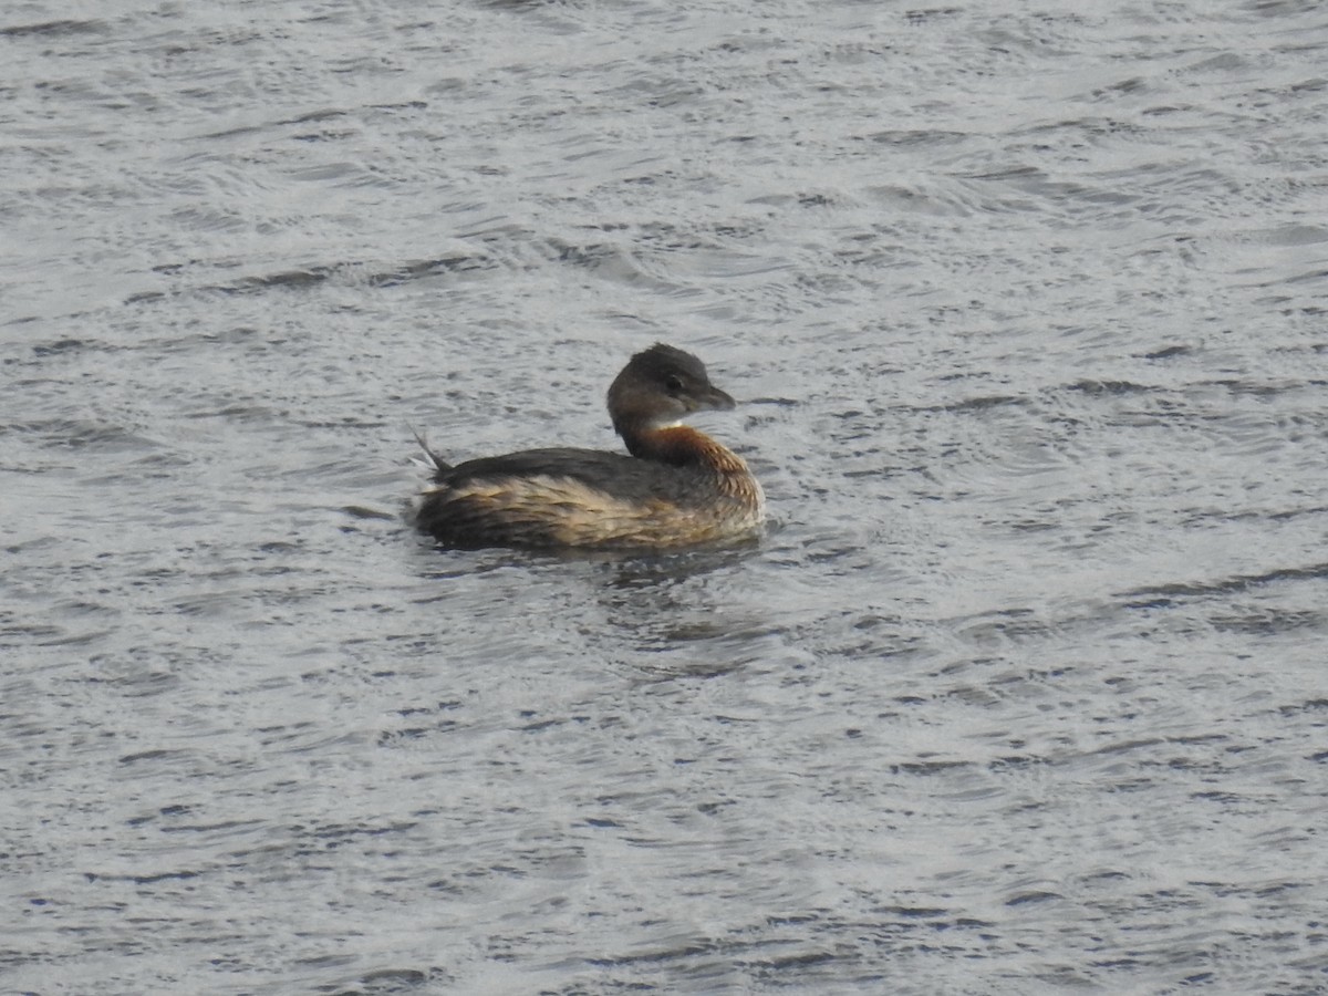
[(559, 448), (452, 466), (421, 440), (433, 486), (414, 502), (414, 525), (462, 548), (663, 548), (749, 537), (765, 514), (761, 485), (740, 456), (679, 424), (733, 404), (700, 360), (656, 343), (608, 389), (614, 429), (632, 456)]

